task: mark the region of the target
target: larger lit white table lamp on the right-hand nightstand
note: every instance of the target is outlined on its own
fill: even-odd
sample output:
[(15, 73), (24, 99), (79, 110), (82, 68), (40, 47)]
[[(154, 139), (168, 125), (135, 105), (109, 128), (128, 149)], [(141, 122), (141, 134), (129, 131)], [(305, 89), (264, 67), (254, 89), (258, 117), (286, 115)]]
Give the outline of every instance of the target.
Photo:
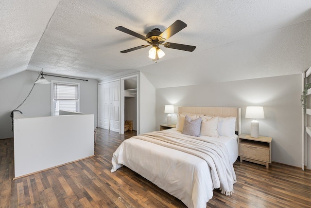
[(262, 106), (247, 106), (245, 118), (253, 118), (251, 122), (251, 137), (259, 138), (259, 123), (256, 119), (264, 118)]

